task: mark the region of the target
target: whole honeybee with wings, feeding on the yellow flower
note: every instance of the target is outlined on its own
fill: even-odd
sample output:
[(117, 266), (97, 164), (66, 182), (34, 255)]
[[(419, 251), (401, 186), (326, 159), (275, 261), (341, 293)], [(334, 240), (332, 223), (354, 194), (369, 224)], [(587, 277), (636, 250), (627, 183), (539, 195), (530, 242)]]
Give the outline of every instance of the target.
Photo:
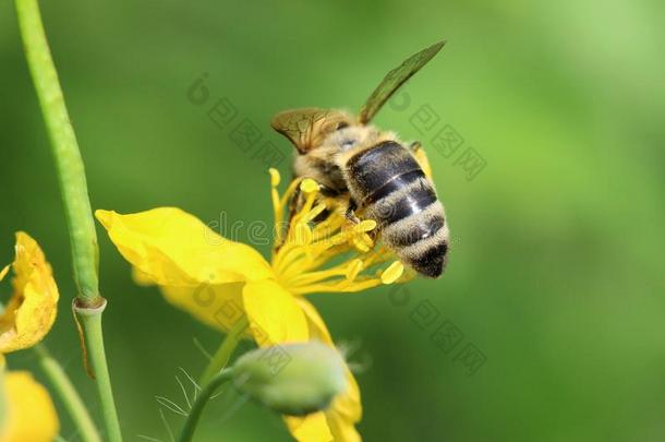
[(445, 45), (411, 56), (384, 77), (358, 117), (304, 108), (278, 114), (271, 127), (295, 147), (293, 171), (347, 204), (348, 217), (374, 219), (384, 244), (427, 277), (443, 274), (449, 230), (419, 142), (406, 144), (370, 121), (392, 94)]

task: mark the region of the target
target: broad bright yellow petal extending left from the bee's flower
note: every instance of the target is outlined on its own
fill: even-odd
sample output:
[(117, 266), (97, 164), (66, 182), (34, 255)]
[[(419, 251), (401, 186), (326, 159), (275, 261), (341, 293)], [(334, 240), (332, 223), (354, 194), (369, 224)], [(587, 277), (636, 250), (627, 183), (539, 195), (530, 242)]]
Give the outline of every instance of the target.
[(95, 215), (124, 259), (154, 284), (186, 287), (273, 277), (256, 250), (222, 238), (179, 208), (129, 215), (97, 211)]

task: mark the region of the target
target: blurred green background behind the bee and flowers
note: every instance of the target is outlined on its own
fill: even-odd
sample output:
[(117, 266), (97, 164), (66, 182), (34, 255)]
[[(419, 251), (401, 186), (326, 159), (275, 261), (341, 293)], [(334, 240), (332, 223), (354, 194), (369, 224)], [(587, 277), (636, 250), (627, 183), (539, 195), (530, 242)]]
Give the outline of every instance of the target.
[[(376, 123), (430, 152), (451, 224), (445, 276), (315, 296), (352, 360), (367, 441), (662, 441), (665, 439), (665, 7), (658, 1), (241, 2), (44, 1), (56, 64), (95, 208), (182, 207), (204, 220), (269, 219), (258, 158), (186, 99), (204, 72), (288, 153), (270, 117), (298, 106), (358, 109), (383, 75), (443, 38), (406, 87), (410, 107)], [(47, 343), (98, 417), (69, 302), (69, 239), (48, 141), (11, 2), (0, 3), (0, 262), (13, 232), (43, 244), (62, 294)], [(410, 122), (430, 105), (486, 162), (471, 181)], [(439, 127), (442, 127), (439, 126)], [(437, 127), (438, 128), (438, 127)], [(239, 239), (246, 239), (241, 234)], [(107, 348), (126, 440), (167, 441), (155, 396), (184, 399), (220, 335), (141, 288), (99, 229)], [(267, 252), (267, 247), (259, 247)], [(1, 287), (3, 296), (8, 285)], [(395, 296), (396, 292), (392, 292)], [(391, 301), (392, 299), (392, 301)], [(421, 330), (422, 302), (439, 312)], [(463, 339), (432, 341), (449, 321)], [(455, 359), (486, 357), (473, 375)], [(31, 353), (12, 368), (35, 369)], [(41, 373), (37, 372), (41, 377)], [(198, 440), (288, 441), (280, 419), (228, 396)], [(176, 430), (182, 419), (170, 411)], [(75, 440), (61, 413), (64, 437)]]

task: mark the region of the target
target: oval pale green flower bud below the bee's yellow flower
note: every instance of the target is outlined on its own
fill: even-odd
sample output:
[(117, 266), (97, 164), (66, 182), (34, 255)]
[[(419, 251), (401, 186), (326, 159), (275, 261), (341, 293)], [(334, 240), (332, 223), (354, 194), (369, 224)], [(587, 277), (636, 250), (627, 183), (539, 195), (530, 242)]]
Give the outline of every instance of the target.
[(238, 359), (232, 378), (240, 392), (292, 416), (327, 408), (348, 382), (341, 356), (317, 341), (250, 351)]

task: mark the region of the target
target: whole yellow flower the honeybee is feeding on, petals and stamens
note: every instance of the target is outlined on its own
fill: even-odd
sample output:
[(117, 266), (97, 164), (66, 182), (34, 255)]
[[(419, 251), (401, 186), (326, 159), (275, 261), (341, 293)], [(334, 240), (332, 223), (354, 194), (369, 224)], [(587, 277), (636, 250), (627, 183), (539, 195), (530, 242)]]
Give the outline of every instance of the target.
[[(335, 346), (304, 295), (352, 292), (412, 277), (368, 235), (376, 223), (351, 224), (339, 204), (319, 194), (311, 179), (295, 180), (280, 196), (270, 170), (275, 244), (270, 262), (253, 248), (222, 238), (194, 216), (173, 207), (120, 215), (97, 211), (137, 282), (160, 286), (165, 298), (202, 322), (229, 330), (246, 314), (259, 346), (318, 339)], [(300, 189), (303, 205), (283, 228), (285, 210)], [(316, 218), (317, 223), (312, 223)], [(324, 219), (321, 219), (324, 218)], [(282, 231), (286, 230), (286, 231)], [(286, 417), (301, 442), (360, 441), (360, 391), (346, 368), (348, 390), (324, 413)]]

